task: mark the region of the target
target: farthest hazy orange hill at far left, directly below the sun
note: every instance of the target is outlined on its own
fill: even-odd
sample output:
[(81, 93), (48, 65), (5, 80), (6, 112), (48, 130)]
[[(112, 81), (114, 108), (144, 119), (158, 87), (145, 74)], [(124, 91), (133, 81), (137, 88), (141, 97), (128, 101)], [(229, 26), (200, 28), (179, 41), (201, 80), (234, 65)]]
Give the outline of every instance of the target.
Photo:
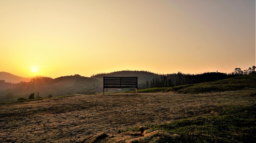
[(34, 76), (31, 78), (23, 78), (20, 76), (15, 76), (13, 74), (10, 74), (8, 72), (0, 72), (0, 80), (4, 80), (5, 82), (11, 82), (11, 83), (19, 83), (19, 82), (29, 82), (33, 78), (38, 78), (42, 76)]

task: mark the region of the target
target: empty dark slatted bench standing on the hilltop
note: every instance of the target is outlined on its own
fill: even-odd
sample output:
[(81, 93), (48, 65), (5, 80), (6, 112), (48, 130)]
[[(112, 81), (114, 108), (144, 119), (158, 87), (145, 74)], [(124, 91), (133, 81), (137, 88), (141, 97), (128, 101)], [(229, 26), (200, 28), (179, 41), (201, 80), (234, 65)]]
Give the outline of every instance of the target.
[(105, 88), (135, 88), (136, 94), (138, 94), (138, 77), (103, 76), (103, 94)]

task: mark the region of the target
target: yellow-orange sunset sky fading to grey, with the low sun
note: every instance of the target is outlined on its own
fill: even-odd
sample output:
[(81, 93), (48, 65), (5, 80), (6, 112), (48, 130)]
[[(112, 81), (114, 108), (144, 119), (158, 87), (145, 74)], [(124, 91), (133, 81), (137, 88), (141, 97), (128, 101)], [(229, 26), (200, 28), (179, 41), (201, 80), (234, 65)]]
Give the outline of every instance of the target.
[(256, 65), (255, 0), (0, 0), (0, 72), (57, 78)]

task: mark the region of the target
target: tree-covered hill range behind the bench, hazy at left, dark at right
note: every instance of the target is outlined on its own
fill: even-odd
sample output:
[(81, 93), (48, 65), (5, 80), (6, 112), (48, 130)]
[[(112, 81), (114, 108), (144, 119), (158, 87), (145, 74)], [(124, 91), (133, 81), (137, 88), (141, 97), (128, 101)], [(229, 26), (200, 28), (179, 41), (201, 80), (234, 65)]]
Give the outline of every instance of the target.
[[(177, 74), (154, 74), (145, 71), (119, 71), (108, 74), (97, 74), (90, 78), (79, 75), (62, 76), (55, 79), (37, 77), (31, 78), (29, 82), (19, 82), (15, 84), (0, 80), (0, 102), (12, 102), (17, 101), (18, 98), (28, 98), (31, 93), (35, 93), (36, 97), (42, 98), (46, 98), (49, 95), (56, 97), (78, 93), (101, 93), (103, 92), (103, 76), (138, 76), (138, 89), (146, 89), (151, 87), (174, 87), (177, 85), (214, 81), (230, 78), (233, 75), (223, 73), (190, 75), (180, 72)], [(112, 90), (112, 92), (116, 91), (118, 91), (118, 89)]]

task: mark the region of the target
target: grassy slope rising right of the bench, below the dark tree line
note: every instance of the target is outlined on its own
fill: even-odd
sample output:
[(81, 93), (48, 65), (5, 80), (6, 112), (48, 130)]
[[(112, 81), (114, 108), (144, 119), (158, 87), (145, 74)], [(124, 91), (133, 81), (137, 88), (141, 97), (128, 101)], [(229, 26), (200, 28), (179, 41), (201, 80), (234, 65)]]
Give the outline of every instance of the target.
[(256, 74), (238, 76), (235, 78), (228, 78), (224, 80), (217, 80), (214, 82), (204, 82), (204, 83), (191, 84), (191, 85), (140, 89), (138, 90), (138, 92), (152, 93), (152, 92), (175, 91), (177, 93), (196, 94), (196, 93), (207, 93), (207, 92), (235, 91), (235, 90), (243, 90), (243, 89), (256, 90)]

